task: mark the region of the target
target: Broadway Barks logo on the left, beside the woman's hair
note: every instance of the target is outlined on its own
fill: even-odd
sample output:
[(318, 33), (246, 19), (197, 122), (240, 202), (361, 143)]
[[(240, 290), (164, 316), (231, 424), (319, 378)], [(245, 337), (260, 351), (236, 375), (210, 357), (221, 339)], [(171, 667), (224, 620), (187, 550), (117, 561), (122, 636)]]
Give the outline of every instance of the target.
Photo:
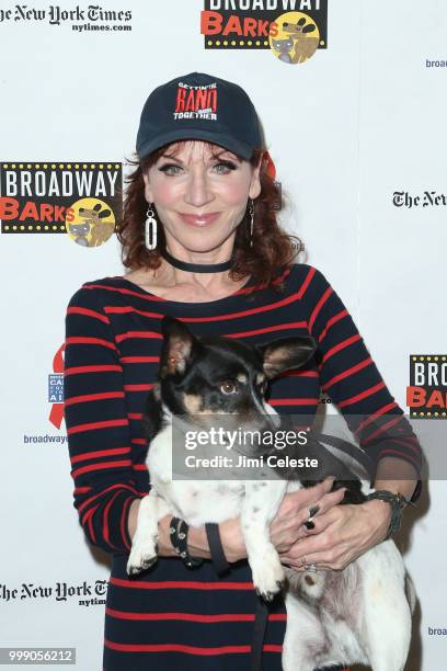
[(122, 163), (2, 163), (2, 234), (68, 234), (99, 247), (122, 216)]

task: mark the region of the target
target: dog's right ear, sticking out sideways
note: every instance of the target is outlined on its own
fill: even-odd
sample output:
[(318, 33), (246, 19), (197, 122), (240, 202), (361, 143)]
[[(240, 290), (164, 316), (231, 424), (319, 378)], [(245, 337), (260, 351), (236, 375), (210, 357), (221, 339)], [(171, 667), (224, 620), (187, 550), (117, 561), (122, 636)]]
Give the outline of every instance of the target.
[(284, 338), (265, 345), (257, 345), (264, 362), (264, 373), (268, 378), (291, 368), (300, 368), (316, 350), (316, 341), (310, 336)]

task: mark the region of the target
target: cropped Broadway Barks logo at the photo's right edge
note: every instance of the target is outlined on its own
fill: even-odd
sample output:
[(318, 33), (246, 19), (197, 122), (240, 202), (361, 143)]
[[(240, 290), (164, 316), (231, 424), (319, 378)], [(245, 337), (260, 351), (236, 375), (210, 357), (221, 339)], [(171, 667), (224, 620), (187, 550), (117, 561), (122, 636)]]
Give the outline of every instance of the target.
[(447, 418), (447, 355), (412, 354), (410, 385), (406, 387), (410, 417)]

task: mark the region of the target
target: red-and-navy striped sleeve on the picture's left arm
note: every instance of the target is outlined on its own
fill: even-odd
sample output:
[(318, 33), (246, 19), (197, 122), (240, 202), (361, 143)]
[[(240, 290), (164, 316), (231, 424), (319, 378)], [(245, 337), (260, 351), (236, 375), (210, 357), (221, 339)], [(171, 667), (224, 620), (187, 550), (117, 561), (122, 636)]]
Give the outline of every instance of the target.
[(136, 488), (123, 369), (110, 319), (95, 292), (79, 289), (66, 317), (65, 420), (74, 508), (89, 542), (111, 554), (130, 549)]

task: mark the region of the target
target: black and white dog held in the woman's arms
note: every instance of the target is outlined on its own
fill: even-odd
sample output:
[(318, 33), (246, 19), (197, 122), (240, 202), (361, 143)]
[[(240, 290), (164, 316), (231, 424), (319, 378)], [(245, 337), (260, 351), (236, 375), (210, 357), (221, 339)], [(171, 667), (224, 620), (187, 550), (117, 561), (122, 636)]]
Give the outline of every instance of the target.
[[(259, 346), (226, 338), (199, 339), (170, 317), (163, 319), (162, 330), (160, 382), (148, 398), (145, 417), (151, 491), (141, 499), (127, 572), (137, 573), (157, 560), (158, 522), (165, 514), (193, 526), (240, 515), (259, 593), (270, 600), (288, 581), (285, 671), (312, 671), (337, 663), (402, 671), (414, 591), (392, 541), (375, 546), (343, 571), (294, 571), (280, 564), (268, 527), (286, 491), (310, 484), (303, 482), (306, 474), (289, 469), (288, 479), (268, 481), (198, 481), (172, 476), (173, 416), (225, 413), (250, 427), (257, 422), (265, 428), (270, 418), (276, 424), (278, 416), (265, 401), (268, 380), (305, 365), (314, 352), (312, 339), (297, 337)], [(312, 448), (314, 444), (307, 445), (306, 454)], [(324, 458), (321, 479), (331, 475), (331, 468), (330, 459)], [(346, 481), (334, 482), (334, 487), (342, 485), (348, 487), (343, 502), (365, 500), (352, 474)], [(362, 487), (366, 493), (371, 491), (366, 482)]]

